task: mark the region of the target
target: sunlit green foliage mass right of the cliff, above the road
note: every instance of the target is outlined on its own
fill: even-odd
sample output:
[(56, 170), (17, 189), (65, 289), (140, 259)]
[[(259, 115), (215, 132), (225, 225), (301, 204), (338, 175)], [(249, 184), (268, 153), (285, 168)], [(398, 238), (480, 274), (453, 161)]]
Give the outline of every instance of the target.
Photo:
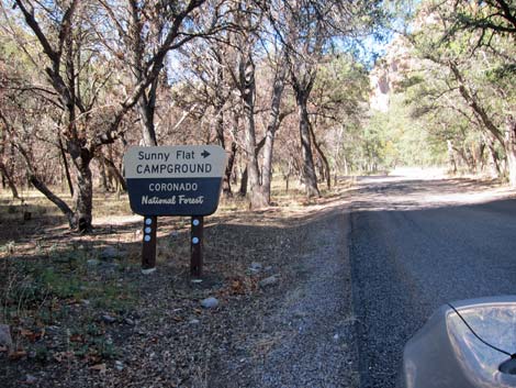
[(496, 154), (504, 155), (505, 120), (516, 107), (514, 40), (457, 29), (457, 18), (471, 12), (473, 20), (486, 8), (456, 4), (419, 4), (412, 34), (402, 43), (411, 49), (408, 71), (391, 96), (389, 112), (374, 113), (363, 133), (377, 144), (379, 165), (445, 163), (452, 152), (474, 169), (493, 138)]

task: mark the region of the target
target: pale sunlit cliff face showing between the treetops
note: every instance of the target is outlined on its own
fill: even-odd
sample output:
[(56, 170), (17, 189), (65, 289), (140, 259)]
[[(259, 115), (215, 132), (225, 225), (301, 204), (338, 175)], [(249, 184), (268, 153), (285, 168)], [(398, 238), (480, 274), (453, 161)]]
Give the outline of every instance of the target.
[(391, 95), (413, 67), (406, 42), (394, 38), (388, 46), (385, 55), (380, 58), (369, 75), (371, 95), (369, 102), (372, 110), (386, 112)]

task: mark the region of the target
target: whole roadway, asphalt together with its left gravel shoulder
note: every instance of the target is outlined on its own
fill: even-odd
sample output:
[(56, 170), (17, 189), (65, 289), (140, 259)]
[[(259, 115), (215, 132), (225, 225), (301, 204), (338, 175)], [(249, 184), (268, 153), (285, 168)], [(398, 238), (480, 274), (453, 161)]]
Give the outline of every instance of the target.
[(237, 340), (243, 356), (222, 357), (209, 386), (392, 388), (435, 309), (515, 293), (512, 192), (422, 173), (359, 178), (313, 207)]

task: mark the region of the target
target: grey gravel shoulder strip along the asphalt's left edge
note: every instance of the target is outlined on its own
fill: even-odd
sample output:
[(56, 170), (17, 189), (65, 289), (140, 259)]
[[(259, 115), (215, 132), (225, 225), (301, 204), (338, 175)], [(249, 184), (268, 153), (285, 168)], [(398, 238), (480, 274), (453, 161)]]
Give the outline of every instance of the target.
[(255, 386), (357, 387), (348, 224), (341, 212), (312, 224), (311, 250), (301, 263), (310, 276), (269, 320), (282, 341), (268, 354)]

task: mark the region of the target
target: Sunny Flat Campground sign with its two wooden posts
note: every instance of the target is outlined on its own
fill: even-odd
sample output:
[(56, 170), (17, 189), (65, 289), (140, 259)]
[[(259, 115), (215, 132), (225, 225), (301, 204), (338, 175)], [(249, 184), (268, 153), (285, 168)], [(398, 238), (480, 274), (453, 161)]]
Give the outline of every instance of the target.
[(131, 209), (145, 217), (142, 271), (156, 269), (159, 215), (191, 215), (193, 277), (202, 274), (204, 215), (215, 212), (225, 173), (226, 153), (216, 145), (131, 147), (124, 155)]

